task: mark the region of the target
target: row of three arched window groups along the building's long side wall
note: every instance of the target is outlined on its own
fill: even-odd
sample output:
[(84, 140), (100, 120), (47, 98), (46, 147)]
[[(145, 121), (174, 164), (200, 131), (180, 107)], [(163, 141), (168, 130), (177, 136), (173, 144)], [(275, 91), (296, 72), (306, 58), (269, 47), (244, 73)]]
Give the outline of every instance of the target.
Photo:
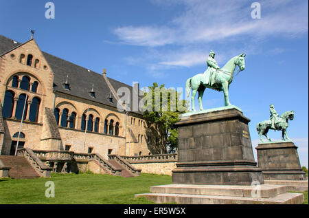
[[(69, 113), (69, 109), (62, 109), (62, 113), (60, 114), (60, 109), (54, 109), (54, 115), (56, 118), (56, 122), (60, 127), (69, 127), (71, 129), (76, 129), (76, 112)], [(59, 123), (60, 122), (60, 123)], [(82, 114), (82, 120), (80, 124), (81, 130), (86, 130), (99, 133), (100, 131), (100, 118), (95, 118), (93, 114), (89, 114), (88, 119), (86, 114)], [(104, 134), (108, 135), (119, 135), (119, 122), (115, 123), (114, 120), (106, 119), (104, 121)]]

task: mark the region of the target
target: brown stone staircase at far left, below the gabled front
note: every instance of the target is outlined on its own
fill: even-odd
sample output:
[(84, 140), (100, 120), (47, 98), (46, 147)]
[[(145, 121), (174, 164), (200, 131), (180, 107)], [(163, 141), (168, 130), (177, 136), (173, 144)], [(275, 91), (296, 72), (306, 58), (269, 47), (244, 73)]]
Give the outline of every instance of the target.
[(40, 177), (23, 156), (0, 155), (5, 166), (10, 166), (9, 177), (13, 179), (32, 179)]

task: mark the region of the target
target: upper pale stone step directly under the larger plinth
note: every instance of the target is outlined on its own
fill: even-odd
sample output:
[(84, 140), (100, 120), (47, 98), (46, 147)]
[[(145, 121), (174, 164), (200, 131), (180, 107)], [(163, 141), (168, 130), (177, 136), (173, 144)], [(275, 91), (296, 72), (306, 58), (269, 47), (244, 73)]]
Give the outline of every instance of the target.
[(150, 187), (150, 193), (216, 195), (231, 197), (252, 197), (252, 195), (255, 196), (258, 194), (257, 190), (262, 198), (275, 197), (288, 191), (286, 186), (266, 184), (262, 184), (260, 186), (169, 184)]

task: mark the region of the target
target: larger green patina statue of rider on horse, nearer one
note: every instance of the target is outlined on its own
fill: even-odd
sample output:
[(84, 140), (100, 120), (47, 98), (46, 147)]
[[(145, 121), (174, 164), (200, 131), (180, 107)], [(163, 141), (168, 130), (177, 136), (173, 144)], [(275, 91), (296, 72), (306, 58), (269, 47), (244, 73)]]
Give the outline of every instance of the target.
[(196, 92), (198, 91), (198, 104), (200, 105), (200, 110), (203, 111), (202, 98), (206, 88), (215, 89), (217, 91), (223, 91), (225, 98), (225, 106), (230, 106), (229, 102), (229, 84), (233, 81), (233, 74), (235, 72), (236, 65), (238, 65), (239, 70), (242, 71), (245, 68), (244, 56), (245, 54), (240, 54), (234, 56), (227, 62), (227, 64), (220, 69), (216, 60), (214, 59), (215, 53), (210, 52), (207, 58), (208, 68), (204, 74), (197, 74), (192, 78), (187, 79), (185, 83), (185, 92), (187, 97), (190, 96), (190, 90), (192, 88), (191, 96), (191, 108), (192, 111), (195, 110), (194, 99)]

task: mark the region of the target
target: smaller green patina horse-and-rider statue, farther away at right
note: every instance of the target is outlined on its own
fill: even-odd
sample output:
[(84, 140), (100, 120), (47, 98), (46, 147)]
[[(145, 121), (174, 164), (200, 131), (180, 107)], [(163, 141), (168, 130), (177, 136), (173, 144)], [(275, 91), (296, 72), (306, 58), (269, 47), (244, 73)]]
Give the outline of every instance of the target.
[(270, 105), (271, 117), (269, 120), (264, 120), (263, 122), (259, 122), (256, 129), (258, 134), (260, 135), (261, 142), (264, 142), (262, 139), (262, 135), (271, 142), (271, 139), (268, 137), (267, 133), (269, 129), (273, 130), (282, 130), (282, 140), (290, 140), (288, 138), (288, 134), (286, 133), (286, 129), (288, 128), (288, 120), (294, 119), (294, 111), (286, 111), (279, 116), (273, 104)]

